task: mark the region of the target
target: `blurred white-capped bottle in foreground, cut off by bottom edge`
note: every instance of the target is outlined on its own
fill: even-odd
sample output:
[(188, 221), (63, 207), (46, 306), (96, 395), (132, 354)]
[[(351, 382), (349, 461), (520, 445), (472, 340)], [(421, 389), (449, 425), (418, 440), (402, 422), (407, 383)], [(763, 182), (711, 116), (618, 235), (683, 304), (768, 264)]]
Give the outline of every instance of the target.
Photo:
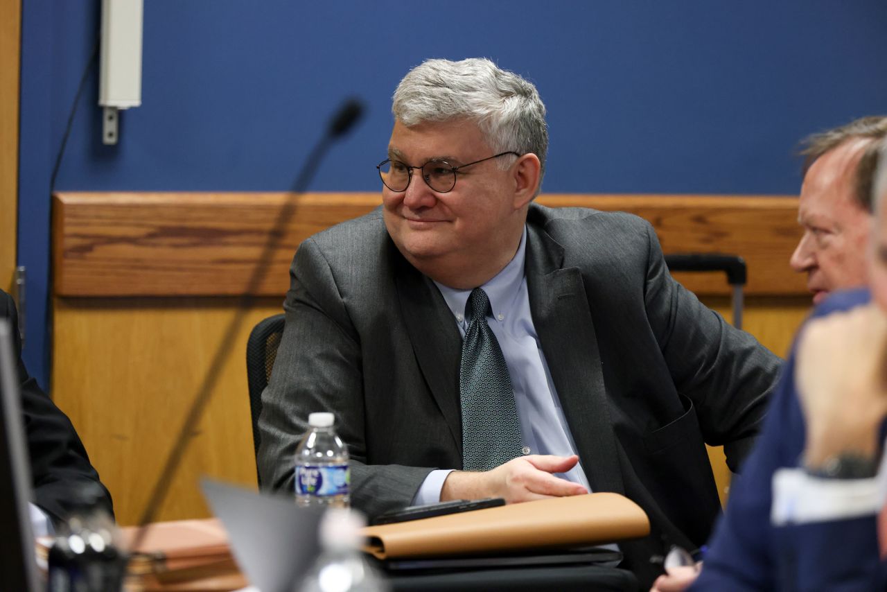
[(365, 518), (349, 509), (329, 509), (320, 521), (323, 552), (299, 592), (387, 592), (390, 588), (360, 551)]

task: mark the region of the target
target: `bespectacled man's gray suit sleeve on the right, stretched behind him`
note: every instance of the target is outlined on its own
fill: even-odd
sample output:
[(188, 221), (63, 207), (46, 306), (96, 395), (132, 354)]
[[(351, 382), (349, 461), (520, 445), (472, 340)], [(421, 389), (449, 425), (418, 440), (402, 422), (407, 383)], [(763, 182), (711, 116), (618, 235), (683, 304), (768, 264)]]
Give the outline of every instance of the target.
[(692, 399), (703, 438), (724, 446), (739, 472), (763, 423), (781, 360), (704, 306), (671, 279), (655, 232), (647, 225), (648, 318), (678, 391)]

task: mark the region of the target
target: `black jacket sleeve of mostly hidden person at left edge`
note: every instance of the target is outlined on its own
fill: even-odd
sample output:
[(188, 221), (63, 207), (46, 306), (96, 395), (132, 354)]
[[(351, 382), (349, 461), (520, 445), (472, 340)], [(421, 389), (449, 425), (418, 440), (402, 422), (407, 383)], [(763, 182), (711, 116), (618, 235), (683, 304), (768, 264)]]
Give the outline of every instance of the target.
[(99, 481), (71, 421), (27, 374), (20, 355), (18, 315), (12, 296), (5, 292), (0, 292), (0, 309), (12, 326), (36, 505), (58, 522), (72, 509), (75, 492), (89, 487), (98, 495), (99, 505), (113, 512), (111, 494)]

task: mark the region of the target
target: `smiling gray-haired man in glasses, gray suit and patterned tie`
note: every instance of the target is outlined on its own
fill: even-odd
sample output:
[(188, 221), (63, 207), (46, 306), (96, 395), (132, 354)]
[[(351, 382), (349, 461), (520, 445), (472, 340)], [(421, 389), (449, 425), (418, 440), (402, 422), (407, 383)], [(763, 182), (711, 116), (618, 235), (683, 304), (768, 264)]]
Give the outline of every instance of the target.
[[(259, 422), (263, 484), (293, 489), (308, 414), (333, 411), (358, 509), (623, 493), (651, 520), (650, 537), (620, 545), (649, 583), (663, 538), (708, 537), (720, 506), (703, 444), (736, 470), (779, 359), (671, 279), (645, 221), (532, 202), (548, 138), (522, 77), (428, 60), (393, 112), (381, 209), (296, 252)], [(484, 315), (467, 308), (475, 288)], [(463, 335), (486, 327), (511, 388), (478, 418)], [(475, 436), (506, 433), (499, 415), (515, 411), (511, 460), (462, 470), (484, 453)]]

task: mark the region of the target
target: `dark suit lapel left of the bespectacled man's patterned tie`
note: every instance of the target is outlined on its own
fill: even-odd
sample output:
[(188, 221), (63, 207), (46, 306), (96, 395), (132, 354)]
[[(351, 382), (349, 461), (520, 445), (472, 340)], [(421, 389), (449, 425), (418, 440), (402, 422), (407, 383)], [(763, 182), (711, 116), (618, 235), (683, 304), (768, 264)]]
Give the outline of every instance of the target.
[(459, 408), (459, 359), (462, 336), (434, 282), (409, 264), (391, 245), (396, 258), (395, 283), (412, 351), (428, 389), (450, 428), (462, 457), (462, 415)]

